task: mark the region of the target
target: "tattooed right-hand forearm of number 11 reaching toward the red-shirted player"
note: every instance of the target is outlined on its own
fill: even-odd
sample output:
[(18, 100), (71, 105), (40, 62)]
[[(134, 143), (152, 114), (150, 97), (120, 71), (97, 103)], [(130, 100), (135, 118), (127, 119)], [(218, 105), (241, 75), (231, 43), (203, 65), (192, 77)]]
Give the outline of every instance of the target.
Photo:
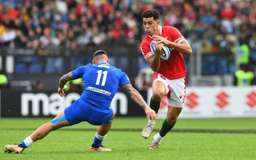
[(148, 119), (156, 120), (157, 113), (148, 106), (148, 104), (145, 102), (145, 100), (143, 99), (141, 94), (136, 89), (134, 89), (134, 87), (132, 87), (131, 84), (125, 84), (123, 86), (123, 89), (125, 92), (127, 92), (129, 97), (137, 105), (139, 105), (141, 108), (143, 108), (145, 110), (145, 113), (147, 114)]

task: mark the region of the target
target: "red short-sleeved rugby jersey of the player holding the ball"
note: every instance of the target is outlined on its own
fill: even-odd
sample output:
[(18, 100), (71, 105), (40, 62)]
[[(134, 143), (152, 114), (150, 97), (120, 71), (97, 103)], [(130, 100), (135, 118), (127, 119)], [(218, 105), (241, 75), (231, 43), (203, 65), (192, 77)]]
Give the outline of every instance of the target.
[[(159, 25), (160, 26), (160, 25)], [(184, 36), (180, 33), (180, 31), (172, 26), (160, 26), (160, 34), (159, 36), (162, 36), (166, 38), (169, 41), (176, 42)], [(152, 55), (150, 50), (150, 43), (153, 40), (152, 36), (145, 36), (143, 41), (141, 42), (141, 52), (143, 54), (143, 57), (147, 59), (148, 56)], [(168, 47), (168, 46), (167, 46)], [(178, 52), (177, 50), (168, 47), (170, 49), (170, 59), (168, 61), (161, 61), (160, 68), (157, 71), (157, 73), (160, 73), (161, 75), (165, 76), (169, 80), (176, 79), (176, 78), (182, 78), (186, 76), (186, 64), (183, 59), (183, 55)]]

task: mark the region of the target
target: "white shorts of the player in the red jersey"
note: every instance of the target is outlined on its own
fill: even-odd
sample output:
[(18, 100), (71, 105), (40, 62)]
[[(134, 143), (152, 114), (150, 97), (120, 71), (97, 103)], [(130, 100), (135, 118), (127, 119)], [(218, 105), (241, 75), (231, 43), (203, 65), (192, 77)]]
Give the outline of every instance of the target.
[(154, 82), (159, 80), (165, 85), (168, 106), (182, 108), (186, 96), (185, 77), (169, 80), (159, 73), (154, 73), (154, 76), (154, 78), (156, 78)]

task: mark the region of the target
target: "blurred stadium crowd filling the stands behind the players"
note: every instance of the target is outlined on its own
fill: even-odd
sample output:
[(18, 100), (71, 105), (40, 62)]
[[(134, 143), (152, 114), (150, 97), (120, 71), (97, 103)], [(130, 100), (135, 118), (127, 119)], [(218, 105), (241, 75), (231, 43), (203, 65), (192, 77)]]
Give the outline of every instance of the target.
[(239, 64), (256, 68), (256, 1), (3, 0), (0, 46), (8, 54), (79, 55), (99, 45), (140, 45), (147, 8), (161, 13), (161, 25), (177, 27), (194, 54), (227, 55), (234, 62), (238, 52)]

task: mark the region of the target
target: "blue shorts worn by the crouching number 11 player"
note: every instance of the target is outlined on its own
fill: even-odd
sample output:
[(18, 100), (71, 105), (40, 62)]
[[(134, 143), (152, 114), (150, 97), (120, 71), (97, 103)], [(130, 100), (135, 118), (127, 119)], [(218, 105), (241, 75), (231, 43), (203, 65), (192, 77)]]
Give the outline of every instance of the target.
[(98, 108), (90, 105), (83, 99), (77, 99), (72, 105), (64, 110), (65, 117), (70, 125), (86, 121), (95, 126), (100, 126), (113, 117), (112, 108)]

